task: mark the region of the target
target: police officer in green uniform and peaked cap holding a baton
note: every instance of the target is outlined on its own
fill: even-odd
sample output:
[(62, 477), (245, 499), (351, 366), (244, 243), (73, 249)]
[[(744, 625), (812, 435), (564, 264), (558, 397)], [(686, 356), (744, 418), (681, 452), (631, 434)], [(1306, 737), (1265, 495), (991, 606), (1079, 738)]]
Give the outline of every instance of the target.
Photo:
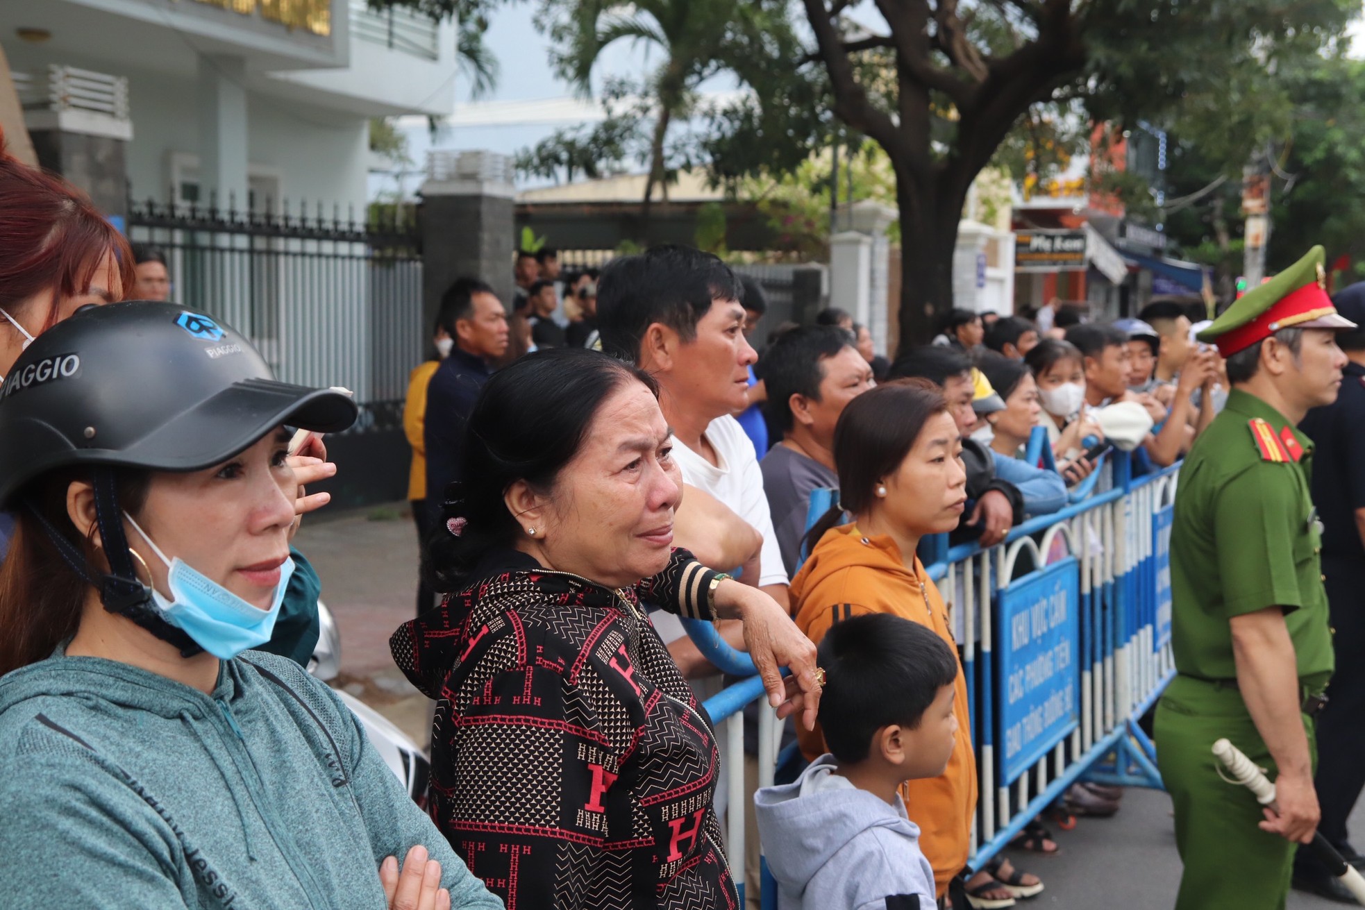
[[(1313, 445), (1295, 424), (1331, 404), (1354, 329), (1323, 288), (1323, 248), (1200, 333), (1233, 392), (1181, 469), (1171, 528), (1177, 677), (1156, 708), (1162, 779), (1185, 864), (1177, 910), (1284, 907), (1295, 843), (1312, 839), (1313, 715), (1332, 674), (1309, 497)], [(1218, 772), (1227, 737), (1278, 787), (1279, 816)]]

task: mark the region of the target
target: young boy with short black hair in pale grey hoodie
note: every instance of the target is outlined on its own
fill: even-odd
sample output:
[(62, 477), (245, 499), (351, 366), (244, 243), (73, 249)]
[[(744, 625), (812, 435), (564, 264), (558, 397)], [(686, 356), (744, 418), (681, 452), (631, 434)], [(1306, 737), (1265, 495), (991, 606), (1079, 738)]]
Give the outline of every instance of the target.
[(830, 753), (753, 797), (778, 910), (928, 910), (934, 872), (897, 787), (947, 765), (957, 656), (919, 623), (870, 614), (835, 622), (819, 662)]

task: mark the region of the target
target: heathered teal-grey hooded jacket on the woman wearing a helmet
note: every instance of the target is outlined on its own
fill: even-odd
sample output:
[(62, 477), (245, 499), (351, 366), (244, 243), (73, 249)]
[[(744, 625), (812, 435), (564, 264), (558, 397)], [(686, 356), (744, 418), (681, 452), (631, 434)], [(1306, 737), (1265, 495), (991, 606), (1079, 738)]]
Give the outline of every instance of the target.
[(0, 820), (10, 910), (384, 910), (416, 843), (452, 907), (502, 907), (332, 690), (259, 651), (212, 696), (60, 649), (0, 678)]

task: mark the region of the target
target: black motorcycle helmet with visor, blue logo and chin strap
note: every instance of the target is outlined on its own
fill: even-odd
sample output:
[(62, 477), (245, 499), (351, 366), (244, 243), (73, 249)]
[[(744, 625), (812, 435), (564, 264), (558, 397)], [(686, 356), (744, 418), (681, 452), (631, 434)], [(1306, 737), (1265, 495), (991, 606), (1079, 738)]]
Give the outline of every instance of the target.
[(49, 471), (90, 465), (111, 574), (48, 535), (105, 608), (194, 654), (136, 580), (113, 469), (202, 471), (280, 424), (337, 432), (355, 417), (341, 392), (277, 382), (250, 341), (209, 317), (146, 300), (86, 307), (38, 336), (0, 386), (0, 508), (27, 508), (25, 486)]

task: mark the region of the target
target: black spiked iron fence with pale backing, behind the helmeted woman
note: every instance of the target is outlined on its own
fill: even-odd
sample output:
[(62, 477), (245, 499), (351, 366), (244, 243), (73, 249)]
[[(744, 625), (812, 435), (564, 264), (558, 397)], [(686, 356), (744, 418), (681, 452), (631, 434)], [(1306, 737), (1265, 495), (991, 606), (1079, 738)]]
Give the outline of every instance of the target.
[(416, 225), (266, 209), (132, 203), (128, 237), (160, 248), (172, 300), (251, 338), (281, 381), (352, 389), (356, 431), (397, 426), (430, 334)]

